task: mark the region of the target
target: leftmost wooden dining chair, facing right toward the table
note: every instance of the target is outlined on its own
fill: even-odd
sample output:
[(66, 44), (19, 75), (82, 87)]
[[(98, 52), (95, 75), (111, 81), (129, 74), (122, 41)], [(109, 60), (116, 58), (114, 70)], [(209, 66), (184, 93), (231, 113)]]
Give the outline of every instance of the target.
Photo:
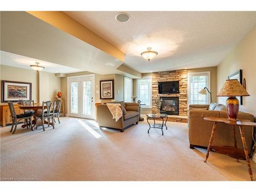
[(27, 125), (27, 129), (29, 128), (29, 125), (28, 125), (28, 121), (30, 121), (30, 126), (32, 126), (32, 116), (33, 114), (20, 114), (20, 115), (16, 115), (16, 112), (15, 112), (15, 109), (14, 109), (14, 105), (13, 105), (13, 102), (11, 101), (8, 101), (8, 106), (9, 106), (9, 110), (11, 112), (11, 117), (12, 117), (12, 127), (11, 127), (11, 131), (13, 130), (13, 127), (14, 127), (14, 130), (12, 132), (12, 134), (15, 133), (16, 129), (17, 129), (17, 125), (18, 125), (18, 122), (20, 120), (25, 120), (26, 121), (26, 125)]

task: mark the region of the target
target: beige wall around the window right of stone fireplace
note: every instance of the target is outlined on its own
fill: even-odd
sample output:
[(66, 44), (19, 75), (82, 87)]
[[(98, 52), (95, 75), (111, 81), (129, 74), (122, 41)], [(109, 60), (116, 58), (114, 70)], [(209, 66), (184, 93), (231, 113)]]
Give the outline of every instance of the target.
[(210, 72), (210, 92), (212, 97), (212, 102), (217, 102), (217, 67), (210, 68), (197, 68), (197, 69), (188, 69), (187, 73), (196, 73), (196, 72)]

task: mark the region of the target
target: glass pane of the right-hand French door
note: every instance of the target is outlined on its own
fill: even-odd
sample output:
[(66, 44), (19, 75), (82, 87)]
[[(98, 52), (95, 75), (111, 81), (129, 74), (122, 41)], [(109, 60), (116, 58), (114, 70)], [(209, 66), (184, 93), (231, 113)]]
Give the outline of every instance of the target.
[(91, 115), (91, 81), (82, 82), (82, 114)]

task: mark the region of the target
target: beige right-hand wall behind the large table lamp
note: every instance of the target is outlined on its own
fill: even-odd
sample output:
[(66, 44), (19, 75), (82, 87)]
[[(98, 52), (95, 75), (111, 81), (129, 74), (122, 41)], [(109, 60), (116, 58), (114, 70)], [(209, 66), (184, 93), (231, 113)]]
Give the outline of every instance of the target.
[[(246, 91), (250, 94), (243, 97), (240, 110), (251, 113), (256, 120), (256, 26), (231, 50), (217, 67), (217, 91), (220, 91), (228, 75), (243, 70), (246, 80)], [(218, 102), (225, 104), (227, 97), (218, 97)], [(256, 138), (254, 130), (254, 138)], [(256, 153), (253, 155), (256, 162)]]

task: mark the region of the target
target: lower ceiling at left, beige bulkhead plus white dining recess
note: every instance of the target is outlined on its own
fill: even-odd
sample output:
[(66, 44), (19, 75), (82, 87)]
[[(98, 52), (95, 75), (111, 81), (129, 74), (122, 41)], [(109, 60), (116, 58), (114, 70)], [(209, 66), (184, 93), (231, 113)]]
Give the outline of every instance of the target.
[[(38, 61), (51, 73), (124, 74), (123, 62), (24, 11), (1, 12), (1, 64), (28, 68)], [(61, 72), (62, 71), (62, 72)]]

